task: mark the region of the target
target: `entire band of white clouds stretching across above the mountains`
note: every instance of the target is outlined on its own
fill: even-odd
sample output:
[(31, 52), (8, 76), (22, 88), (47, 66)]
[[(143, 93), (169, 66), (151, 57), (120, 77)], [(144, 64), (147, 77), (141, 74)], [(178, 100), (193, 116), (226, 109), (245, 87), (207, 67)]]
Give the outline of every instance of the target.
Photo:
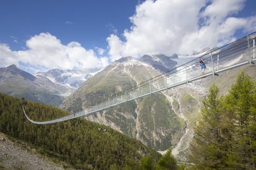
[(35, 73), (53, 68), (101, 68), (127, 56), (192, 54), (234, 41), (237, 32), (255, 31), (255, 14), (237, 17), (244, 5), (245, 0), (139, 1), (129, 18), (132, 26), (121, 37), (114, 25), (106, 25), (113, 32), (106, 38), (108, 49), (96, 47), (93, 51), (79, 42), (62, 44), (56, 36), (40, 33), (28, 39), (22, 51), (0, 44), (0, 67), (15, 64)]

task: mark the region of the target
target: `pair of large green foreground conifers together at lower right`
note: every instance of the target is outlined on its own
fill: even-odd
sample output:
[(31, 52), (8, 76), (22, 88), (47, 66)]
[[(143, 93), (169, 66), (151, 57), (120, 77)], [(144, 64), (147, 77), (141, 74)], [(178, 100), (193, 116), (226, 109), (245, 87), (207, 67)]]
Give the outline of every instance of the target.
[(199, 169), (255, 169), (256, 86), (244, 71), (224, 97), (210, 87), (201, 116), (191, 144)]

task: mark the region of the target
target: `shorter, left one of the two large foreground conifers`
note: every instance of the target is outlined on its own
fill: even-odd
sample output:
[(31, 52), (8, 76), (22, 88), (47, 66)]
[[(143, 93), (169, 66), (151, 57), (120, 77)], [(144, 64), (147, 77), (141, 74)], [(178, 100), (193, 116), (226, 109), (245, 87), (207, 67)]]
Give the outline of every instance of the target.
[(213, 84), (203, 99), (201, 119), (195, 127), (192, 160), (198, 168), (221, 169), (225, 166), (226, 145), (223, 137), (223, 108), (218, 87)]

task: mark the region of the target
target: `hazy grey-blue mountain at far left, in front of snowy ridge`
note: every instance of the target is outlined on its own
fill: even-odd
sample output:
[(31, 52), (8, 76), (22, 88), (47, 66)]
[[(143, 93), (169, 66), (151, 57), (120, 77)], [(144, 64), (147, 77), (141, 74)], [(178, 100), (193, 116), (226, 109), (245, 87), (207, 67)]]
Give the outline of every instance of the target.
[(0, 92), (5, 94), (58, 107), (64, 100), (61, 94), (67, 91), (70, 88), (43, 76), (37, 78), (15, 65), (0, 68)]

